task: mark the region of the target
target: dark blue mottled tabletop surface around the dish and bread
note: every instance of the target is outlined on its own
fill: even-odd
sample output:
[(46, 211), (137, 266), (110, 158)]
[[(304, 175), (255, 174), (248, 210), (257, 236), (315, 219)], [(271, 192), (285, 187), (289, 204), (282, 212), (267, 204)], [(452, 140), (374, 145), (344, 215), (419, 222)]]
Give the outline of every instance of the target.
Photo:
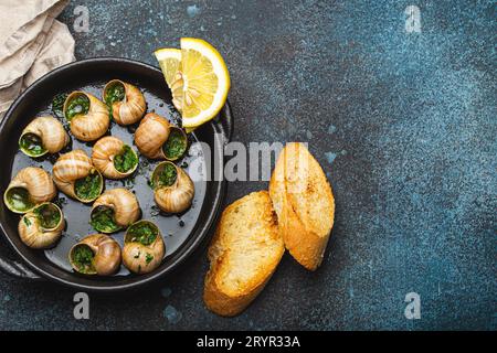
[[(76, 56), (210, 41), (231, 73), (234, 139), (309, 141), (336, 196), (318, 271), (285, 255), (234, 319), (203, 307), (202, 254), (134, 295), (91, 297), (0, 277), (0, 329), (491, 329), (496, 314), (495, 1), (73, 1)], [(404, 9), (421, 9), (406, 33)], [(229, 185), (231, 202), (264, 182)], [(2, 253), (8, 253), (2, 240)], [(11, 253), (10, 253), (11, 254)], [(421, 296), (421, 320), (404, 296)]]

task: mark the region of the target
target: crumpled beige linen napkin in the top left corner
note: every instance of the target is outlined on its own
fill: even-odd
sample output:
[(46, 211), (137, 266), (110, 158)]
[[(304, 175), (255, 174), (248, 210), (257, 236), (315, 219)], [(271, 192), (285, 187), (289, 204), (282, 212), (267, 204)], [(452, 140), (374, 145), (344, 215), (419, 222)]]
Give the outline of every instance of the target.
[(68, 0), (0, 0), (0, 119), (36, 78), (75, 60), (74, 40), (55, 18)]

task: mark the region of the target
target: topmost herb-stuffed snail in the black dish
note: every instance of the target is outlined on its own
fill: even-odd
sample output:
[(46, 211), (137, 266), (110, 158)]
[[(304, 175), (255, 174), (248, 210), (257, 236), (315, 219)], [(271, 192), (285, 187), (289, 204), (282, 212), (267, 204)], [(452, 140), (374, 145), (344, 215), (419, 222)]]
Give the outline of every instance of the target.
[(103, 98), (119, 125), (138, 122), (147, 109), (145, 97), (138, 87), (120, 79), (109, 81), (105, 85)]

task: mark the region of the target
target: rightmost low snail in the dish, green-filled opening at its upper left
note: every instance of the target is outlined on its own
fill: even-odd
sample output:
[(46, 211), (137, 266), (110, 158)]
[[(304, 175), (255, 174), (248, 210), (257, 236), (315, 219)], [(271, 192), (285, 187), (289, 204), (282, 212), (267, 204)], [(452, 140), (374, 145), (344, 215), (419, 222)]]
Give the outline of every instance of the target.
[(151, 175), (154, 200), (167, 213), (181, 213), (191, 206), (195, 193), (190, 176), (172, 162), (159, 163)]

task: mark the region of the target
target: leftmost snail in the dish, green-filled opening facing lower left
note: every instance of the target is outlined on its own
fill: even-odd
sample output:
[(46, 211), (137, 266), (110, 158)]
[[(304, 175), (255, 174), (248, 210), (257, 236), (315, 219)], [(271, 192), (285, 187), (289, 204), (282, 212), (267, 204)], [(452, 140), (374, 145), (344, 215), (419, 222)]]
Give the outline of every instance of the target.
[(18, 172), (3, 193), (3, 202), (14, 213), (27, 213), (51, 201), (57, 191), (52, 176), (41, 168), (28, 167)]

